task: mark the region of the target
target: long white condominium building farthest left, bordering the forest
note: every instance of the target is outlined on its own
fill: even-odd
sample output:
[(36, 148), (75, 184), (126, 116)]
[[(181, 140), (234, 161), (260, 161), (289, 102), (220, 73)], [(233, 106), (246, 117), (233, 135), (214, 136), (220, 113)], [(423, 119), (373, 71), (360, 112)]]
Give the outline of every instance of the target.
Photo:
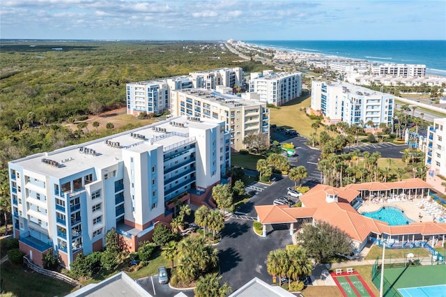
[(170, 91), (217, 86), (240, 86), (243, 82), (243, 69), (219, 68), (197, 71), (189, 75), (154, 79), (146, 82), (127, 84), (127, 113), (137, 116), (141, 112), (162, 114), (170, 108)]

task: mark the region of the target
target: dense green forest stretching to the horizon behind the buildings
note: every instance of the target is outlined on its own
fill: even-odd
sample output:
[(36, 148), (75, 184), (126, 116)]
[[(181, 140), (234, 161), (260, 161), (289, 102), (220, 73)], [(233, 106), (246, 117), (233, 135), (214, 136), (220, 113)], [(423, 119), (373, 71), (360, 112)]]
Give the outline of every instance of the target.
[(238, 56), (215, 42), (2, 40), (0, 52), (1, 169), (9, 160), (116, 132), (79, 133), (61, 123), (124, 106), (128, 82), (221, 67), (265, 68), (235, 62)]

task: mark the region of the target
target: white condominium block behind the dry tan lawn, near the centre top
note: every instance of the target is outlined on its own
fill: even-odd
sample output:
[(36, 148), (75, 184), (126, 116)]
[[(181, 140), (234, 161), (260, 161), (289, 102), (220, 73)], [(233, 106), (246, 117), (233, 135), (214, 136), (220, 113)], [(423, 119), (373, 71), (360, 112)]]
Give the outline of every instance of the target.
[(280, 106), (302, 94), (302, 73), (251, 73), (249, 92), (258, 93), (262, 102)]

